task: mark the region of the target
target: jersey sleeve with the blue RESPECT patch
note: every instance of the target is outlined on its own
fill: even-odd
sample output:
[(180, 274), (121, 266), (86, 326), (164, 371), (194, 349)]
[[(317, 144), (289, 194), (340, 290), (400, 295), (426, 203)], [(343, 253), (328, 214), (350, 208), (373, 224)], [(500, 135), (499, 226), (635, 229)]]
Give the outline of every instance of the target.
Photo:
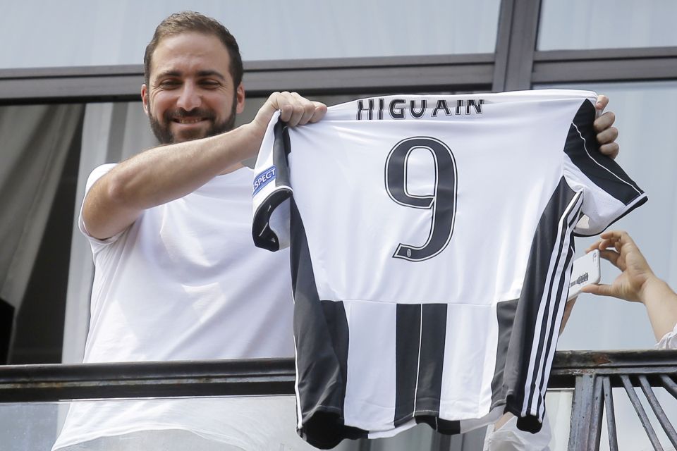
[(252, 204), (252, 237), (262, 249), (277, 251), (289, 247), (290, 202), (287, 154), (289, 135), (275, 113), (264, 135), (256, 160)]

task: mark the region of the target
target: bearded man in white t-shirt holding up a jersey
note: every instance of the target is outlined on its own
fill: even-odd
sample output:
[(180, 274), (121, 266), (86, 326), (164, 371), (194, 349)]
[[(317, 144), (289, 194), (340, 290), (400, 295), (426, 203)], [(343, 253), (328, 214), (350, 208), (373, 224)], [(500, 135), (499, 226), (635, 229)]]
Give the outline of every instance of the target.
[[(79, 225), (97, 270), (85, 362), (293, 356), (288, 256), (252, 244), (253, 173), (240, 161), (256, 155), (274, 111), (295, 126), (319, 121), (326, 106), (276, 92), (233, 129), (245, 101), (242, 73), (235, 38), (215, 20), (184, 12), (157, 27), (141, 96), (164, 145), (97, 168), (87, 182)], [(606, 113), (596, 123), (608, 154), (618, 152), (613, 122)], [(219, 401), (73, 404), (55, 449), (106, 449), (97, 445), (106, 440), (140, 449), (134, 440), (152, 446), (181, 431), (189, 433), (179, 440), (220, 450), (306, 446), (279, 438), (294, 433), (293, 407)], [(125, 440), (106, 438), (116, 435)], [(166, 442), (163, 449), (188, 447)]]

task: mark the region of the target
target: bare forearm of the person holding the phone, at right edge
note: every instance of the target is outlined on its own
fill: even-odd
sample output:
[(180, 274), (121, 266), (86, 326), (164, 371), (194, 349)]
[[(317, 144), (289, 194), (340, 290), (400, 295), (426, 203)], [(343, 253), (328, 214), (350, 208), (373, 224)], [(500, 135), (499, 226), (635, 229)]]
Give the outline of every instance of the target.
[(677, 323), (677, 294), (667, 283), (654, 276), (642, 288), (640, 300), (647, 307), (656, 340), (660, 340)]

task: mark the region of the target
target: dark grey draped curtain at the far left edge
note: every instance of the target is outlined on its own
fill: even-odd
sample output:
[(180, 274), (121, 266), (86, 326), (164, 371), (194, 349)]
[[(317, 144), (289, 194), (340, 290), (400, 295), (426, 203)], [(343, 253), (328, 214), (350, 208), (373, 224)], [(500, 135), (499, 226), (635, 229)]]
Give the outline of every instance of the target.
[(82, 111), (81, 105), (0, 108), (0, 207), (11, 218), (0, 221), (0, 297), (16, 310)]

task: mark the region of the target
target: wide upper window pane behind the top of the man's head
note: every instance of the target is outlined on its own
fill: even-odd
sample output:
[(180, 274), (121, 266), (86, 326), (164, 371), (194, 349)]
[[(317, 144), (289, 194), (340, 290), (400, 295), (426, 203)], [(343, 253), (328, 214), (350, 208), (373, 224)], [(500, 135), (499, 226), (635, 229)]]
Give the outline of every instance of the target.
[(157, 24), (185, 9), (224, 23), (238, 38), (245, 61), (490, 53), (499, 4), (70, 0), (66, 7), (60, 2), (11, 2), (0, 16), (0, 39), (15, 44), (3, 49), (0, 68), (140, 64)]

